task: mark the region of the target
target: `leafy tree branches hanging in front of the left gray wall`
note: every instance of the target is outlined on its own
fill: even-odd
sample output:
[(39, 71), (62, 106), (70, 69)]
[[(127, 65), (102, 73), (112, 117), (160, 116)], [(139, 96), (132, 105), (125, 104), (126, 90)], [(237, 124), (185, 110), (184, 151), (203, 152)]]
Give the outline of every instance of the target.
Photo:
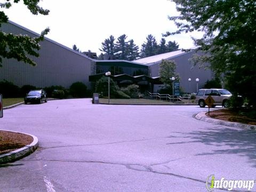
[[(19, 2), (20, 0), (14, 0), (14, 3)], [(38, 3), (39, 0), (23, 1), (23, 4), (27, 6), (32, 14), (49, 14), (50, 11), (44, 10), (42, 7), (38, 6)], [(11, 6), (12, 4), (9, 2), (9, 0), (5, 0), (4, 3), (0, 3), (1, 8), (9, 9)], [(0, 11), (0, 28), (2, 26), (2, 23), (7, 22), (7, 15), (3, 11)], [(18, 61), (23, 61), (25, 63), (29, 63), (32, 66), (35, 66), (35, 61), (33, 59), (30, 59), (28, 55), (39, 57), (39, 54), (37, 52), (40, 49), (39, 42), (43, 41), (44, 35), (46, 35), (49, 31), (50, 29), (46, 28), (42, 31), (39, 37), (29, 37), (27, 35), (21, 34), (7, 34), (0, 30), (0, 66), (2, 66), (1, 63), (3, 62), (3, 58), (13, 58), (17, 59)]]

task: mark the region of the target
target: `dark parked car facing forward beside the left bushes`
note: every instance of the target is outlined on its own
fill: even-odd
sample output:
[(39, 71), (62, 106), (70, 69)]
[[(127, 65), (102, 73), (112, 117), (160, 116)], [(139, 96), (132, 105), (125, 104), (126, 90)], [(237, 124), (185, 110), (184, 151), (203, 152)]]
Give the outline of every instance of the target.
[(24, 98), (25, 104), (47, 102), (47, 94), (44, 90), (31, 90)]

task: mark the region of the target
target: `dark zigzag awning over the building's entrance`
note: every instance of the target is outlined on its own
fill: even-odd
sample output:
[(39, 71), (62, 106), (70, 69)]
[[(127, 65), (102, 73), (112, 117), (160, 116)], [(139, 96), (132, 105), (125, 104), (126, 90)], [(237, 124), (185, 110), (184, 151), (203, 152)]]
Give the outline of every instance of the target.
[[(106, 76), (105, 73), (90, 75), (89, 81), (96, 82), (102, 76)], [(160, 81), (159, 77), (149, 77), (147, 75), (131, 76), (131, 75), (127, 75), (127, 74), (121, 74), (121, 75), (110, 75), (110, 78), (112, 78), (116, 82), (132, 81), (133, 83), (138, 83), (141, 81), (147, 81), (147, 82), (153, 83), (153, 84), (163, 84), (163, 82)]]

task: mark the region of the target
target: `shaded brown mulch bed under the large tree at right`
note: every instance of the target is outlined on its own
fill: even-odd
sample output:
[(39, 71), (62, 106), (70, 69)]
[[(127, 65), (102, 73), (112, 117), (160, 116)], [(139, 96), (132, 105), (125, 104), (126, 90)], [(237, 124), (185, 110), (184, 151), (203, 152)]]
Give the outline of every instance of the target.
[[(206, 113), (206, 115), (209, 116), (208, 113)], [(256, 125), (256, 118), (248, 117), (246, 115), (243, 115), (241, 111), (231, 109), (220, 109), (210, 111), (210, 117), (220, 119), (223, 121)]]

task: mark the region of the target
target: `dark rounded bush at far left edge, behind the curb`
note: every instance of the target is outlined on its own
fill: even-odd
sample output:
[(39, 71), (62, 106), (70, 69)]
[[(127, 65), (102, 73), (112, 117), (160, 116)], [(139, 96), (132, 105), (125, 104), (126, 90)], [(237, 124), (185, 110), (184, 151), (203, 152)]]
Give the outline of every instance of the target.
[(20, 87), (6, 80), (0, 82), (0, 93), (4, 98), (20, 97)]

